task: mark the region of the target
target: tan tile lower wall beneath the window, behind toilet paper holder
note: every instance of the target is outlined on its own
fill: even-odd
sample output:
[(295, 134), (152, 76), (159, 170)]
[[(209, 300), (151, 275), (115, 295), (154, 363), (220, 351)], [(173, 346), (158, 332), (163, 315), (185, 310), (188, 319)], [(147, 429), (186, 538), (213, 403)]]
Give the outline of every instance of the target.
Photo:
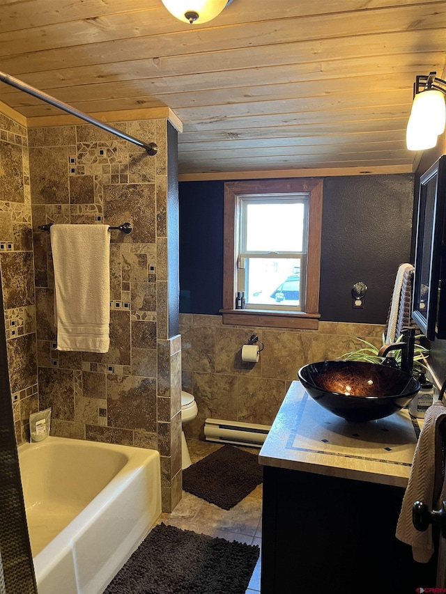
[[(223, 325), (220, 315), (180, 314), (183, 390), (198, 407), (187, 437), (200, 437), (208, 417), (271, 425), (300, 367), (362, 347), (357, 337), (380, 346), (383, 330), (346, 322), (319, 322), (317, 331), (249, 328)], [(252, 334), (265, 345), (256, 364), (241, 359)]]

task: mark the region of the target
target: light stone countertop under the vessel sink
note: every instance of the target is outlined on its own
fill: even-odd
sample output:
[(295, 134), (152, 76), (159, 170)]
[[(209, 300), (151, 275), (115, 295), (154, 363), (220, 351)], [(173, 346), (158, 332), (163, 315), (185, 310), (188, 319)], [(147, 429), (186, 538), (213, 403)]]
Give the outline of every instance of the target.
[(259, 462), (266, 466), (406, 487), (422, 427), (407, 409), (352, 423), (321, 407), (293, 382)]

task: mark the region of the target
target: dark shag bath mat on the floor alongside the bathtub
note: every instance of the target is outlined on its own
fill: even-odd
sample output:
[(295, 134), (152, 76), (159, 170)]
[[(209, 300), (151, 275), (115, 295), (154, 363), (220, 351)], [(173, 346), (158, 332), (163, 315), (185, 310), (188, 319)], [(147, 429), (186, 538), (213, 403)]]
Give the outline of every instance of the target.
[(159, 524), (104, 594), (245, 594), (259, 547)]

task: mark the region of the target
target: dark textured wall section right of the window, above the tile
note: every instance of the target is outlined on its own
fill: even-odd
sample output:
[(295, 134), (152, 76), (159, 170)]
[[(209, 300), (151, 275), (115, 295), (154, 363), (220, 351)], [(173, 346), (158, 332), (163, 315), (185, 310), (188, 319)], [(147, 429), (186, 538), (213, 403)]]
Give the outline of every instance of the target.
[[(413, 175), (326, 178), (323, 189), (321, 318), (384, 324), (399, 265), (410, 261)], [(364, 309), (351, 287), (364, 282)]]

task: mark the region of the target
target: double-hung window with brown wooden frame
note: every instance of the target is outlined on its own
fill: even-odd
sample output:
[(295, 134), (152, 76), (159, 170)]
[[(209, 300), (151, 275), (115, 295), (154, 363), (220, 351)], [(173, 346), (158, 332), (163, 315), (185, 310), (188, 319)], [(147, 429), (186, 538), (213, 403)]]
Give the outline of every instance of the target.
[[(225, 184), (225, 323), (317, 328), (322, 184)], [(245, 309), (236, 309), (238, 291)]]

